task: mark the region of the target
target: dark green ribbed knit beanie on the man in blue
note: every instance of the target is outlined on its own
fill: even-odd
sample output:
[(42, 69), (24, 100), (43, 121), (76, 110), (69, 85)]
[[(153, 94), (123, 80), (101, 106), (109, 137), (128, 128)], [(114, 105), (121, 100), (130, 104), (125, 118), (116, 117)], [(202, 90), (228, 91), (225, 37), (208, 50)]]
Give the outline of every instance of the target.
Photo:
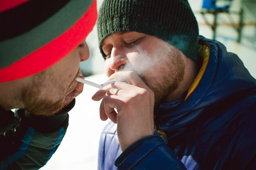
[(160, 38), (197, 61), (198, 23), (187, 0), (104, 0), (97, 22), (99, 48), (119, 31)]

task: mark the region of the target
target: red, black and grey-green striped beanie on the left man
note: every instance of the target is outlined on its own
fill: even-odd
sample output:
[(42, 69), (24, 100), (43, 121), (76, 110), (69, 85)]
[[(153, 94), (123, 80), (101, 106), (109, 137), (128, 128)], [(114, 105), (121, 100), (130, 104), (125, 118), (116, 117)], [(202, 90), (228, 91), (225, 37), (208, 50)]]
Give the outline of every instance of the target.
[(96, 0), (0, 0), (0, 83), (52, 66), (96, 20)]

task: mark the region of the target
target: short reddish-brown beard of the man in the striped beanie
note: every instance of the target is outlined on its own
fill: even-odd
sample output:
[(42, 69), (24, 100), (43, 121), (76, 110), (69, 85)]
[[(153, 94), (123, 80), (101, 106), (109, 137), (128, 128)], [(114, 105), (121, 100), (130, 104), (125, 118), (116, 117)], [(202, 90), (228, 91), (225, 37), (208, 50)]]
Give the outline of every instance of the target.
[[(76, 81), (78, 74), (73, 81)], [(23, 93), (25, 109), (34, 115), (54, 115), (64, 107), (70, 85), (67, 87), (63, 83), (56, 83), (51, 68), (34, 75), (30, 87), (25, 88)]]

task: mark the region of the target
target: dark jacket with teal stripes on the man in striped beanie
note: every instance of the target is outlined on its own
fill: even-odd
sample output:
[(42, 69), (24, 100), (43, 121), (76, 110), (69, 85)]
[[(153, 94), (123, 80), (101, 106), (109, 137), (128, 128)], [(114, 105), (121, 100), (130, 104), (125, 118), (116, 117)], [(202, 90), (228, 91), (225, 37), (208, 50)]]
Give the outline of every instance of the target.
[(52, 157), (65, 135), (68, 114), (75, 101), (54, 116), (25, 116), (18, 110), (19, 126), (1, 135), (0, 170), (36, 170)]

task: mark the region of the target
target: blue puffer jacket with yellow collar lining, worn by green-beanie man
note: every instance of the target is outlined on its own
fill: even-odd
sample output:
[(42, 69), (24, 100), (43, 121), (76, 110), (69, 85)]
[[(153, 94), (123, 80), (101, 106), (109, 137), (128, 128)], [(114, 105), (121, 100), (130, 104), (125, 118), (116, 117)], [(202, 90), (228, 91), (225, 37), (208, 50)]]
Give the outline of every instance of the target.
[(123, 153), (110, 122), (101, 135), (99, 170), (256, 170), (256, 80), (223, 44), (200, 38), (210, 55), (191, 89), (161, 104), (158, 132)]

